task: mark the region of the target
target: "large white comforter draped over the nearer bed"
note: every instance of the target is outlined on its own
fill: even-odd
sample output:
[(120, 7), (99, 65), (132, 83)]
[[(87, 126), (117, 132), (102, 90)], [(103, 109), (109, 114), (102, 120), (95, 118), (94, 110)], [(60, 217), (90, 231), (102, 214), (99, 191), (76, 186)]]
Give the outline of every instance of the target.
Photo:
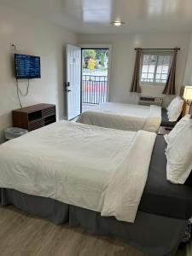
[(154, 139), (147, 131), (48, 125), (0, 146), (0, 188), (134, 222)]

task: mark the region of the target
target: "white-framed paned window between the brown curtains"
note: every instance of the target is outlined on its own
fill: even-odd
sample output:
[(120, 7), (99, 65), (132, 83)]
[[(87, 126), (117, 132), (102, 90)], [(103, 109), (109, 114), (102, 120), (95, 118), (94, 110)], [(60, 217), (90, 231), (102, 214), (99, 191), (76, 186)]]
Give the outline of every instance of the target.
[(166, 84), (172, 53), (144, 53), (141, 57), (141, 83)]

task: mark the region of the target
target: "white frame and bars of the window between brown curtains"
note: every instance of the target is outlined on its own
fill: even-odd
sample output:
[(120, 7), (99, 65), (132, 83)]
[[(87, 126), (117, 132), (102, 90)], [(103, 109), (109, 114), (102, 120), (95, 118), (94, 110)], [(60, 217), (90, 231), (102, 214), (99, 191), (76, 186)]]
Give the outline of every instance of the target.
[[(165, 83), (160, 83), (160, 82), (144, 82), (142, 81), (142, 70), (143, 70), (143, 55), (157, 55), (157, 56), (165, 56), (165, 55), (169, 55), (171, 58), (170, 58), (170, 62), (169, 62), (169, 68), (168, 68), (168, 73), (167, 73), (167, 77), (168, 77), (168, 74), (170, 72), (170, 67), (172, 65), (172, 51), (154, 51), (154, 50), (143, 50), (142, 51), (142, 55), (141, 55), (141, 60), (140, 60), (140, 84), (141, 85), (160, 85), (160, 86), (165, 86), (166, 85), (166, 82)], [(154, 67), (154, 79), (155, 79), (155, 76), (156, 76), (156, 71), (157, 71), (157, 63), (158, 61), (156, 61), (155, 63), (155, 67)]]

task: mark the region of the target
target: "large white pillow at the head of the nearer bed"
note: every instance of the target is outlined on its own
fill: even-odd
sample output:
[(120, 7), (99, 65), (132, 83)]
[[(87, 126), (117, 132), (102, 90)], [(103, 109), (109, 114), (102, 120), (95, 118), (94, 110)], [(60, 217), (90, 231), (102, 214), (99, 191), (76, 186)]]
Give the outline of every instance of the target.
[(168, 137), (166, 178), (172, 183), (183, 184), (192, 170), (192, 119), (186, 117), (177, 128), (175, 131), (173, 128)]

